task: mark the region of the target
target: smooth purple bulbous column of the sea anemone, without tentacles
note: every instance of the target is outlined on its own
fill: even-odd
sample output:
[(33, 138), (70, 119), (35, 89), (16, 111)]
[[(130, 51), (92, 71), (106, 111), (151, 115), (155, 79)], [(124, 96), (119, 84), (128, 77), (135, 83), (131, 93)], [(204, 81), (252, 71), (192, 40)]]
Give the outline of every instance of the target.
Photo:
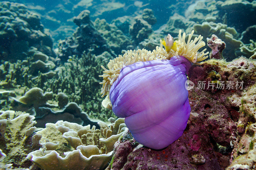
[(190, 114), (185, 88), (190, 67), (185, 57), (173, 56), (122, 68), (109, 98), (137, 142), (162, 149), (182, 135)]

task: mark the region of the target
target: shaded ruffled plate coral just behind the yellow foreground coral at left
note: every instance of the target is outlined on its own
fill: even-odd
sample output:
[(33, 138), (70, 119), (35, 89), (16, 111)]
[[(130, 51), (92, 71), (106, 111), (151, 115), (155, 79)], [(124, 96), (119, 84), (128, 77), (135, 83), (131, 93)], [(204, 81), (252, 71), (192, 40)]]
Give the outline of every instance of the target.
[[(87, 113), (83, 112), (76, 103), (68, 103), (68, 96), (64, 93), (58, 93), (58, 105), (53, 100), (53, 92), (45, 92), (34, 87), (28, 90), (24, 96), (19, 99), (11, 97), (14, 100), (13, 110), (22, 110), (36, 117), (37, 127), (44, 127), (46, 122), (56, 122), (59, 119), (77, 122), (82, 125), (97, 125), (98, 119), (90, 119)], [(63, 105), (63, 100), (66, 105)], [(66, 101), (65, 101), (66, 100)], [(58, 106), (62, 108), (59, 110)], [(98, 127), (98, 126), (97, 126)]]

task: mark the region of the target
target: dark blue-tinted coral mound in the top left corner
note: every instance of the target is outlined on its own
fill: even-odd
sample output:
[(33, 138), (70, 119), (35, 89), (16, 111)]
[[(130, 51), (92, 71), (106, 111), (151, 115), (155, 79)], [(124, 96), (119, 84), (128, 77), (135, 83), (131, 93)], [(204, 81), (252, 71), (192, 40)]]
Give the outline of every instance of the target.
[(26, 59), (30, 47), (54, 56), (52, 37), (40, 22), (40, 16), (25, 5), (0, 3), (0, 57), (16, 61)]

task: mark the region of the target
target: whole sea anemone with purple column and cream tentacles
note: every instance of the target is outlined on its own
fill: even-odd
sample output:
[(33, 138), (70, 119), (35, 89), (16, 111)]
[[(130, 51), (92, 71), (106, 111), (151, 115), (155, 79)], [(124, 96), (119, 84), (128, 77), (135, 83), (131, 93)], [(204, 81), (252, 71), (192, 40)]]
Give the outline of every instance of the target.
[[(150, 148), (162, 149), (177, 140), (186, 128), (190, 114), (186, 74), (192, 63), (200, 64), (208, 54), (198, 52), (205, 46), (202, 36), (191, 40), (194, 31), (178, 41), (160, 40), (156, 50), (128, 50), (108, 63), (104, 71), (101, 94), (107, 95), (117, 117), (134, 139)], [(169, 35), (168, 35), (169, 36)], [(169, 39), (167, 39), (169, 41)], [(173, 41), (173, 40), (172, 40)], [(163, 43), (165, 48), (163, 48)], [(176, 45), (175, 48), (172, 48)], [(108, 102), (108, 107), (110, 104)], [(110, 107), (111, 108), (111, 107)]]

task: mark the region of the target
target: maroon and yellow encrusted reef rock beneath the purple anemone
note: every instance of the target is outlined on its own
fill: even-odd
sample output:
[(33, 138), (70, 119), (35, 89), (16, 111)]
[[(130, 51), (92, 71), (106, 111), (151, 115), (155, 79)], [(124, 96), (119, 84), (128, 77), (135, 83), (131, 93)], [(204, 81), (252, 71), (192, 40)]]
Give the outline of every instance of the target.
[(196, 86), (189, 91), (191, 114), (183, 135), (167, 148), (153, 150), (134, 143), (127, 132), (116, 143), (108, 168), (253, 169), (255, 70), (256, 62), (244, 57), (193, 65), (188, 77)]

